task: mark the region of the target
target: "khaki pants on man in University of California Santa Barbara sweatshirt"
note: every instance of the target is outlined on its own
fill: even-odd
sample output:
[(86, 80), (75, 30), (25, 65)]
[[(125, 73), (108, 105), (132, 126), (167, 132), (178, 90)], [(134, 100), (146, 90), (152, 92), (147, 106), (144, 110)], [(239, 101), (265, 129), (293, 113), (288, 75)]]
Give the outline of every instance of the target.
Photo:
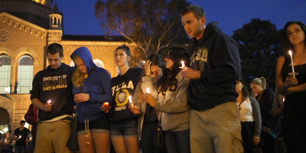
[(71, 153), (66, 147), (70, 120), (40, 122), (37, 126), (35, 153)]

